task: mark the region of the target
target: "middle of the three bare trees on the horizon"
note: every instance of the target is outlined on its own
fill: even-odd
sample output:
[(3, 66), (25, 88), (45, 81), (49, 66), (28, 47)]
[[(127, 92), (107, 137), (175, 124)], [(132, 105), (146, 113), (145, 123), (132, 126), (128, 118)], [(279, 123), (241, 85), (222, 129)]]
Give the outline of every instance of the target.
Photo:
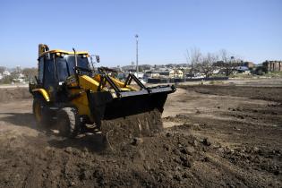
[(218, 61), (218, 56), (216, 54), (208, 53), (206, 56), (202, 56), (201, 63), (199, 68), (201, 73), (205, 74), (205, 77), (208, 78), (212, 71), (214, 70), (214, 63)]

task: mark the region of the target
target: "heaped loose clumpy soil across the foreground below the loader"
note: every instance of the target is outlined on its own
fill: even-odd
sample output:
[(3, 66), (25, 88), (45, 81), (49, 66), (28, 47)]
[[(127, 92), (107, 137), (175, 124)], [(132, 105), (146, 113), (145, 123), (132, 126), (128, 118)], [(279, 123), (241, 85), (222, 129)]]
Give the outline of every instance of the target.
[[(190, 125), (182, 125), (126, 142), (114, 151), (107, 150), (107, 143), (98, 135), (73, 140), (45, 134), (11, 137), (9, 142), (0, 142), (0, 150), (5, 150), (0, 153), (0, 167), (5, 169), (0, 171), (0, 187), (281, 185), (279, 163), (260, 157), (263, 154), (280, 160), (281, 150), (233, 150), (190, 132)], [(251, 173), (258, 169), (278, 179), (264, 182), (267, 177)]]

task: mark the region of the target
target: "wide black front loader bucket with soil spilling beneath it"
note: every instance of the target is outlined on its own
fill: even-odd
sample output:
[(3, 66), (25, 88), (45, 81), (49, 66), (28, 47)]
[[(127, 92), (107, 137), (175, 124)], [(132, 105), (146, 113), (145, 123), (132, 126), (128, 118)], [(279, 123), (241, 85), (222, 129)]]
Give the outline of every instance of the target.
[(102, 132), (121, 128), (134, 136), (150, 136), (163, 129), (161, 113), (174, 86), (124, 91), (119, 98), (109, 92), (89, 92), (90, 111)]

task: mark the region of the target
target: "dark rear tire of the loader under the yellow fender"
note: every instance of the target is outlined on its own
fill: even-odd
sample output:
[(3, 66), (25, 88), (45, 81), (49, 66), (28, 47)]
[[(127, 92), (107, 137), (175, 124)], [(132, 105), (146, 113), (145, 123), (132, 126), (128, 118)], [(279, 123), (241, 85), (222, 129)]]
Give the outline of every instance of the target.
[(40, 95), (33, 98), (32, 112), (39, 126), (49, 126), (52, 124), (52, 116), (47, 109), (47, 101)]

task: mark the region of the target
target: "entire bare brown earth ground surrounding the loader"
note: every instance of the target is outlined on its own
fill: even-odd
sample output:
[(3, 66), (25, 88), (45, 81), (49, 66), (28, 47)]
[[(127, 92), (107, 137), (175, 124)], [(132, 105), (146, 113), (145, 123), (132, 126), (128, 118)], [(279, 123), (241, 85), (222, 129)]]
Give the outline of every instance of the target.
[(112, 150), (37, 127), (27, 89), (1, 89), (0, 187), (281, 187), (279, 83), (179, 86), (164, 132)]

